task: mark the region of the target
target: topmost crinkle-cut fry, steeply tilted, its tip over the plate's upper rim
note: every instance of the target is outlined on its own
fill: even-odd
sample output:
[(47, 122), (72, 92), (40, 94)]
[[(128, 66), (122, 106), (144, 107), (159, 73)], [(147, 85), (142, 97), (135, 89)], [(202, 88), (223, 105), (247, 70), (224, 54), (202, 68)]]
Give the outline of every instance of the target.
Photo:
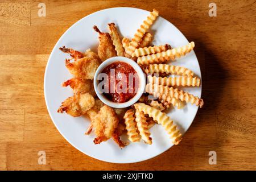
[(154, 23), (154, 21), (158, 17), (158, 15), (159, 15), (159, 12), (154, 9), (150, 13), (150, 15), (147, 16), (147, 19), (144, 20), (144, 22), (141, 24), (141, 27), (134, 34), (134, 38), (131, 39), (131, 42), (130, 42), (129, 47), (126, 52), (128, 55), (131, 55), (135, 51), (135, 49), (139, 46), (139, 43), (141, 42), (144, 34)]

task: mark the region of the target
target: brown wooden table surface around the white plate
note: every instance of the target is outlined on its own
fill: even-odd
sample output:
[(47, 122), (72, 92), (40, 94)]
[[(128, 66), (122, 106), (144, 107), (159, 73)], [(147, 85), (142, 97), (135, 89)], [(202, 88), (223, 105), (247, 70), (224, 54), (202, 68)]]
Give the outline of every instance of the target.
[[(34, 1), (0, 3), (0, 170), (256, 169), (255, 1)], [(72, 147), (49, 118), (44, 70), (53, 46), (73, 23), (109, 7), (138, 7), (170, 20), (190, 41), (203, 74), (205, 107), (179, 146), (153, 159), (112, 164)], [(171, 35), (167, 35), (171, 36)], [(47, 164), (38, 164), (38, 151)], [(209, 151), (217, 152), (210, 165)]]

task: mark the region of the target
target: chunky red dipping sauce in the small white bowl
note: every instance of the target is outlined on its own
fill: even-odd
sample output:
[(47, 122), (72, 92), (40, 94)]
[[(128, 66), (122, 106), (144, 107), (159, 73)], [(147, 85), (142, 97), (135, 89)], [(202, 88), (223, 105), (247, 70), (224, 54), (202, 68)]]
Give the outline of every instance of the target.
[(102, 73), (108, 75), (104, 88), (105, 97), (117, 103), (129, 101), (135, 96), (139, 87), (139, 77), (130, 64), (114, 62), (104, 68)]

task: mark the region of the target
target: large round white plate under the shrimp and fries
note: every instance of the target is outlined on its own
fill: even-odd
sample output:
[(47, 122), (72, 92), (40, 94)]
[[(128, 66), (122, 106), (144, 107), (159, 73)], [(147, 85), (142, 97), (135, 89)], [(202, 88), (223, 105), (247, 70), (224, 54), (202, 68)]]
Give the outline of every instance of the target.
[[(90, 123), (88, 119), (84, 117), (73, 118), (68, 114), (57, 113), (61, 102), (65, 98), (72, 96), (70, 88), (61, 86), (61, 83), (71, 78), (72, 75), (69, 74), (64, 64), (65, 58), (68, 58), (69, 55), (61, 52), (59, 47), (72, 47), (79, 51), (91, 48), (96, 51), (98, 34), (93, 30), (93, 26), (97, 25), (101, 31), (108, 31), (107, 23), (110, 22), (114, 22), (118, 26), (122, 36), (132, 38), (148, 14), (148, 11), (130, 7), (117, 7), (97, 11), (73, 24), (61, 36), (49, 56), (44, 76), (44, 96), (49, 115), (57, 129), (72, 146), (93, 158), (112, 163), (141, 162), (162, 154), (162, 152), (172, 147), (172, 143), (162, 126), (154, 126), (150, 129), (152, 145), (144, 144), (143, 142), (130, 143), (121, 150), (112, 139), (96, 145), (93, 143), (94, 135), (84, 135)], [(161, 15), (161, 12), (159, 14)], [(173, 24), (162, 17), (156, 20), (151, 27), (151, 31), (154, 32), (154, 41), (152, 43), (155, 45), (168, 43), (172, 47), (178, 47), (188, 43), (185, 36)], [(201, 77), (199, 63), (194, 51), (172, 62), (172, 64), (187, 67)], [(184, 88), (183, 90), (201, 97), (201, 87)], [(197, 106), (187, 104), (184, 109), (173, 109), (168, 115), (177, 123), (181, 133), (184, 134), (195, 118), (197, 109)], [(182, 144), (182, 141), (180, 144)]]

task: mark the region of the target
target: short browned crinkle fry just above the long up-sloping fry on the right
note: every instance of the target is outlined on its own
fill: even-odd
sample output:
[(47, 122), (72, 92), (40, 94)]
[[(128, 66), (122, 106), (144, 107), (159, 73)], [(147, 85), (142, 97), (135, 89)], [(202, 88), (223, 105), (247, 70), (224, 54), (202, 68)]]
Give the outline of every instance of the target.
[(168, 49), (171, 49), (171, 46), (169, 44), (165, 44), (162, 46), (153, 46), (153, 47), (150, 46), (150, 47), (137, 48), (135, 49), (131, 57), (152, 55), (153, 53), (167, 51)]

